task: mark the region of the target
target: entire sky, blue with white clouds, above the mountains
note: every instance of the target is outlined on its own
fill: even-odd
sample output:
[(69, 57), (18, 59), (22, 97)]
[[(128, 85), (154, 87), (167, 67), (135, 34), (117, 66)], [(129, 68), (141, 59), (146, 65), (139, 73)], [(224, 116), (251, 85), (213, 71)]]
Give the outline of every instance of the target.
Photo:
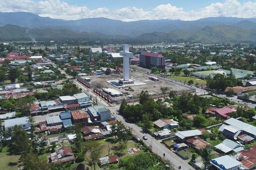
[(256, 0), (0, 0), (0, 12), (20, 11), (65, 20), (256, 18)]

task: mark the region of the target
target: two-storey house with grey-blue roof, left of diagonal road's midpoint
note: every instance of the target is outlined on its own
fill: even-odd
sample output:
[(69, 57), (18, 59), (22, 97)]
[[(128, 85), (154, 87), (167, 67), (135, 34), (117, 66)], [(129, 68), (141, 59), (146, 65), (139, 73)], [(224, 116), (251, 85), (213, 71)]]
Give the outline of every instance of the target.
[(103, 105), (88, 107), (88, 114), (90, 115), (94, 123), (104, 122), (108, 118), (111, 118), (111, 113)]

